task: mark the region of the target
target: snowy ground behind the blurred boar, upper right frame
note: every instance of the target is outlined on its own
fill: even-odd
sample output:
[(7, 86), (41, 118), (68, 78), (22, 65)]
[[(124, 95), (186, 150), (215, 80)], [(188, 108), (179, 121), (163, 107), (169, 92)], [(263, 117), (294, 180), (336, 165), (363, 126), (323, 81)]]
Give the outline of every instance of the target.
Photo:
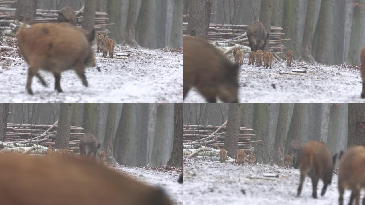
[[(234, 61), (233, 55), (228, 57)], [(364, 102), (360, 98), (360, 65), (323, 65), (274, 58), (272, 69), (247, 65), (247, 55), (239, 71), (240, 102)], [(293, 69), (306, 70), (295, 73)], [(192, 89), (184, 102), (205, 102)]]

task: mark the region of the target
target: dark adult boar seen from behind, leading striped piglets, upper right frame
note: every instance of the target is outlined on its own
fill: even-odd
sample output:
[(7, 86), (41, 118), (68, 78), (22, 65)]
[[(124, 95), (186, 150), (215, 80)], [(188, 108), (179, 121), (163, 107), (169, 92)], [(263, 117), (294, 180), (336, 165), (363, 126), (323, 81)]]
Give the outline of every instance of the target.
[(270, 33), (266, 32), (266, 29), (261, 22), (255, 21), (250, 23), (246, 33), (251, 51), (265, 49), (266, 41), (269, 39)]

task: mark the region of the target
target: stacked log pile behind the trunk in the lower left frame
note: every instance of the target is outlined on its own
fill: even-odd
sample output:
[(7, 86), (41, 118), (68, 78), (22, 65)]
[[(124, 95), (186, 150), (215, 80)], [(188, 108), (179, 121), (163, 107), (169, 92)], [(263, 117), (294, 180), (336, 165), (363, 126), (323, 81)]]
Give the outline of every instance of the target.
[[(53, 125), (30, 125), (30, 124), (12, 124), (8, 123), (6, 127), (5, 142), (4, 144), (11, 145), (10, 147), (20, 148), (23, 147), (29, 149), (35, 146), (36, 149), (33, 152), (44, 152), (43, 149), (48, 147), (54, 147), (55, 139), (57, 136), (57, 123)], [(73, 152), (79, 152), (78, 145), (80, 138), (85, 134), (85, 130), (82, 127), (70, 128), (70, 141), (69, 149)], [(0, 151), (14, 151), (14, 150), (3, 150), (2, 148), (10, 148), (9, 146), (1, 146)], [(15, 148), (14, 148), (15, 149)], [(22, 149), (15, 149), (17, 152), (22, 152)], [(43, 151), (42, 151), (43, 150)], [(24, 150), (23, 150), (24, 151)], [(43, 153), (44, 154), (44, 153)]]

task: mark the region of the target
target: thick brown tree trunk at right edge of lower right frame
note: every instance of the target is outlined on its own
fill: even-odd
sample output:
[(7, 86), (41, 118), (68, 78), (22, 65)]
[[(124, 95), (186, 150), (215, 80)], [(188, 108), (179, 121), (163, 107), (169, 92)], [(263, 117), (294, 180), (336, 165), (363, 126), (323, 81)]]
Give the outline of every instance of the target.
[(365, 103), (349, 103), (349, 124), (347, 147), (353, 145), (365, 146)]

